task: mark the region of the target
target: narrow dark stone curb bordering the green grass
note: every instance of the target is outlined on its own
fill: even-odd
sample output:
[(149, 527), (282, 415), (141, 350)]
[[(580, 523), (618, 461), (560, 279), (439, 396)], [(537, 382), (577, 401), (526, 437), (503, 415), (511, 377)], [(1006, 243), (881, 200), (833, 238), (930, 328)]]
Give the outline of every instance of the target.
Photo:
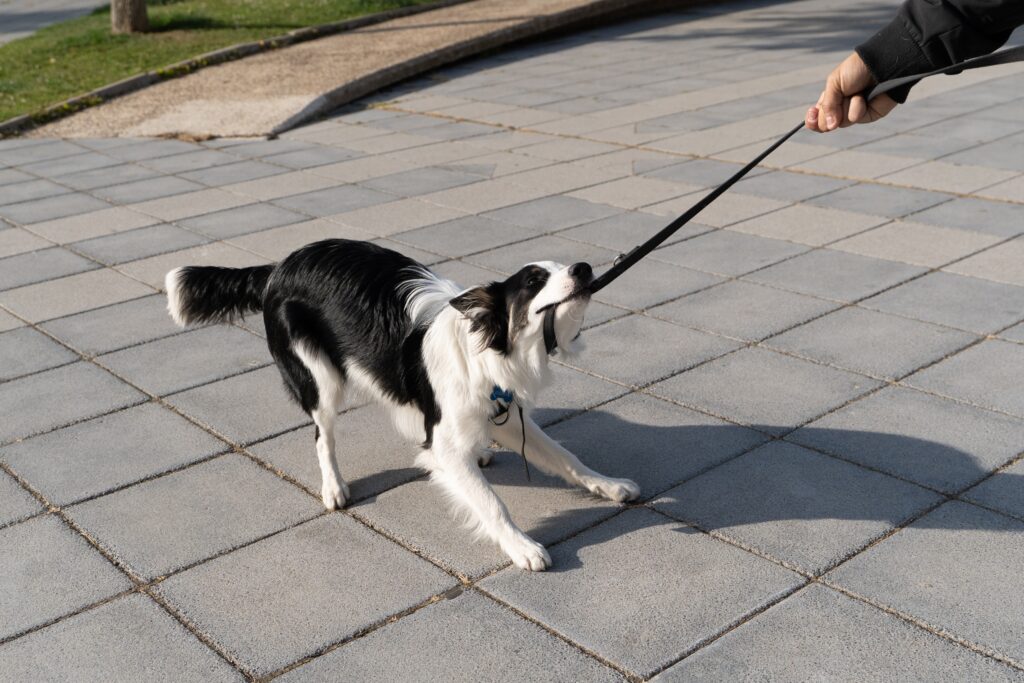
[(31, 128), (35, 128), (36, 126), (62, 119), (77, 112), (81, 112), (84, 109), (101, 104), (109, 99), (120, 97), (121, 95), (135, 92), (136, 90), (141, 90), (145, 87), (154, 85), (155, 83), (160, 83), (161, 81), (185, 76), (206, 67), (213, 67), (224, 63), (225, 61), (233, 61), (234, 59), (241, 59), (242, 57), (247, 57), (251, 54), (266, 52), (281, 47), (288, 47), (289, 45), (304, 43), (307, 40), (324, 38), (325, 36), (343, 33), (345, 31), (353, 31), (355, 29), (373, 26), (374, 24), (381, 24), (382, 22), (389, 22), (402, 16), (419, 14), (433, 9), (442, 9), (453, 5), (460, 5), (465, 2), (472, 2), (472, 0), (439, 0), (439, 2), (431, 2), (425, 5), (399, 7), (397, 9), (377, 12), (376, 14), (367, 14), (366, 16), (345, 19), (344, 22), (332, 22), (330, 24), (319, 24), (317, 26), (296, 29), (295, 31), (290, 31), (287, 34), (274, 36), (273, 38), (266, 38), (264, 40), (253, 41), (250, 43), (239, 43), (238, 45), (222, 47), (218, 50), (206, 52), (204, 54), (200, 54), (199, 56), (190, 57), (161, 69), (156, 69), (143, 74), (137, 74), (135, 76), (129, 76), (128, 78), (116, 83), (104, 85), (100, 88), (96, 88), (95, 90), (90, 90), (84, 94), (76, 95), (75, 97), (66, 99), (62, 102), (47, 106), (45, 110), (37, 112), (36, 114), (24, 114), (22, 116), (14, 117), (13, 119), (0, 121), (0, 138), (13, 137)]

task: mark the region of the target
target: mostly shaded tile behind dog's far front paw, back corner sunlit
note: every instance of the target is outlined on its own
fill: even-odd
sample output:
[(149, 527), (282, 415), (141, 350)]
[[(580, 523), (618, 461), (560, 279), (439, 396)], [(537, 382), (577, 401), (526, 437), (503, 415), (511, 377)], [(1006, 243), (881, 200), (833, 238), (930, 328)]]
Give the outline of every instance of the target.
[(642, 499), (653, 498), (767, 438), (642, 394), (618, 398), (549, 431), (601, 474), (636, 481)]

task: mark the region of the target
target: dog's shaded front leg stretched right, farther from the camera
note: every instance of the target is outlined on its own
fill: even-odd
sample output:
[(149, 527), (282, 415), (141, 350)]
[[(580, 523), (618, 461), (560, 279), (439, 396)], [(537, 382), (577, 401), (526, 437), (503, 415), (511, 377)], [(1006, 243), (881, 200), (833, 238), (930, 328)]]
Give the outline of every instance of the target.
[(523, 423), (519, 422), (518, 411), (510, 411), (509, 419), (490, 429), (492, 437), (502, 446), (521, 453), (526, 460), (548, 474), (560, 476), (577, 486), (583, 486), (609, 501), (632, 501), (640, 495), (640, 486), (630, 479), (615, 479), (595, 472), (580, 462), (580, 459), (544, 433), (528, 416), (525, 422), (526, 449), (523, 446)]

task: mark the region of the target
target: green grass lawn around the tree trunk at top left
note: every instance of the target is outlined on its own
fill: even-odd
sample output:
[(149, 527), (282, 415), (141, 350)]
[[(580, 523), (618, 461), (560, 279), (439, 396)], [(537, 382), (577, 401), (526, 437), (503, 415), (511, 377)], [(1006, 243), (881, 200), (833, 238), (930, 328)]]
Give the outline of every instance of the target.
[(434, 0), (148, 0), (150, 32), (111, 35), (110, 8), (0, 46), (0, 121), (236, 43)]

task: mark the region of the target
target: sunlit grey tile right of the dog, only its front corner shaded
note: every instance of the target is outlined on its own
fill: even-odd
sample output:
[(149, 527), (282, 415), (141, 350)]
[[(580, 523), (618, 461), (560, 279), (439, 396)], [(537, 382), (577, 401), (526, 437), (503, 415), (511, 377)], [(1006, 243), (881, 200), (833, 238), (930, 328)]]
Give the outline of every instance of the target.
[(748, 348), (660, 382), (650, 392), (783, 434), (879, 384), (852, 373)]

